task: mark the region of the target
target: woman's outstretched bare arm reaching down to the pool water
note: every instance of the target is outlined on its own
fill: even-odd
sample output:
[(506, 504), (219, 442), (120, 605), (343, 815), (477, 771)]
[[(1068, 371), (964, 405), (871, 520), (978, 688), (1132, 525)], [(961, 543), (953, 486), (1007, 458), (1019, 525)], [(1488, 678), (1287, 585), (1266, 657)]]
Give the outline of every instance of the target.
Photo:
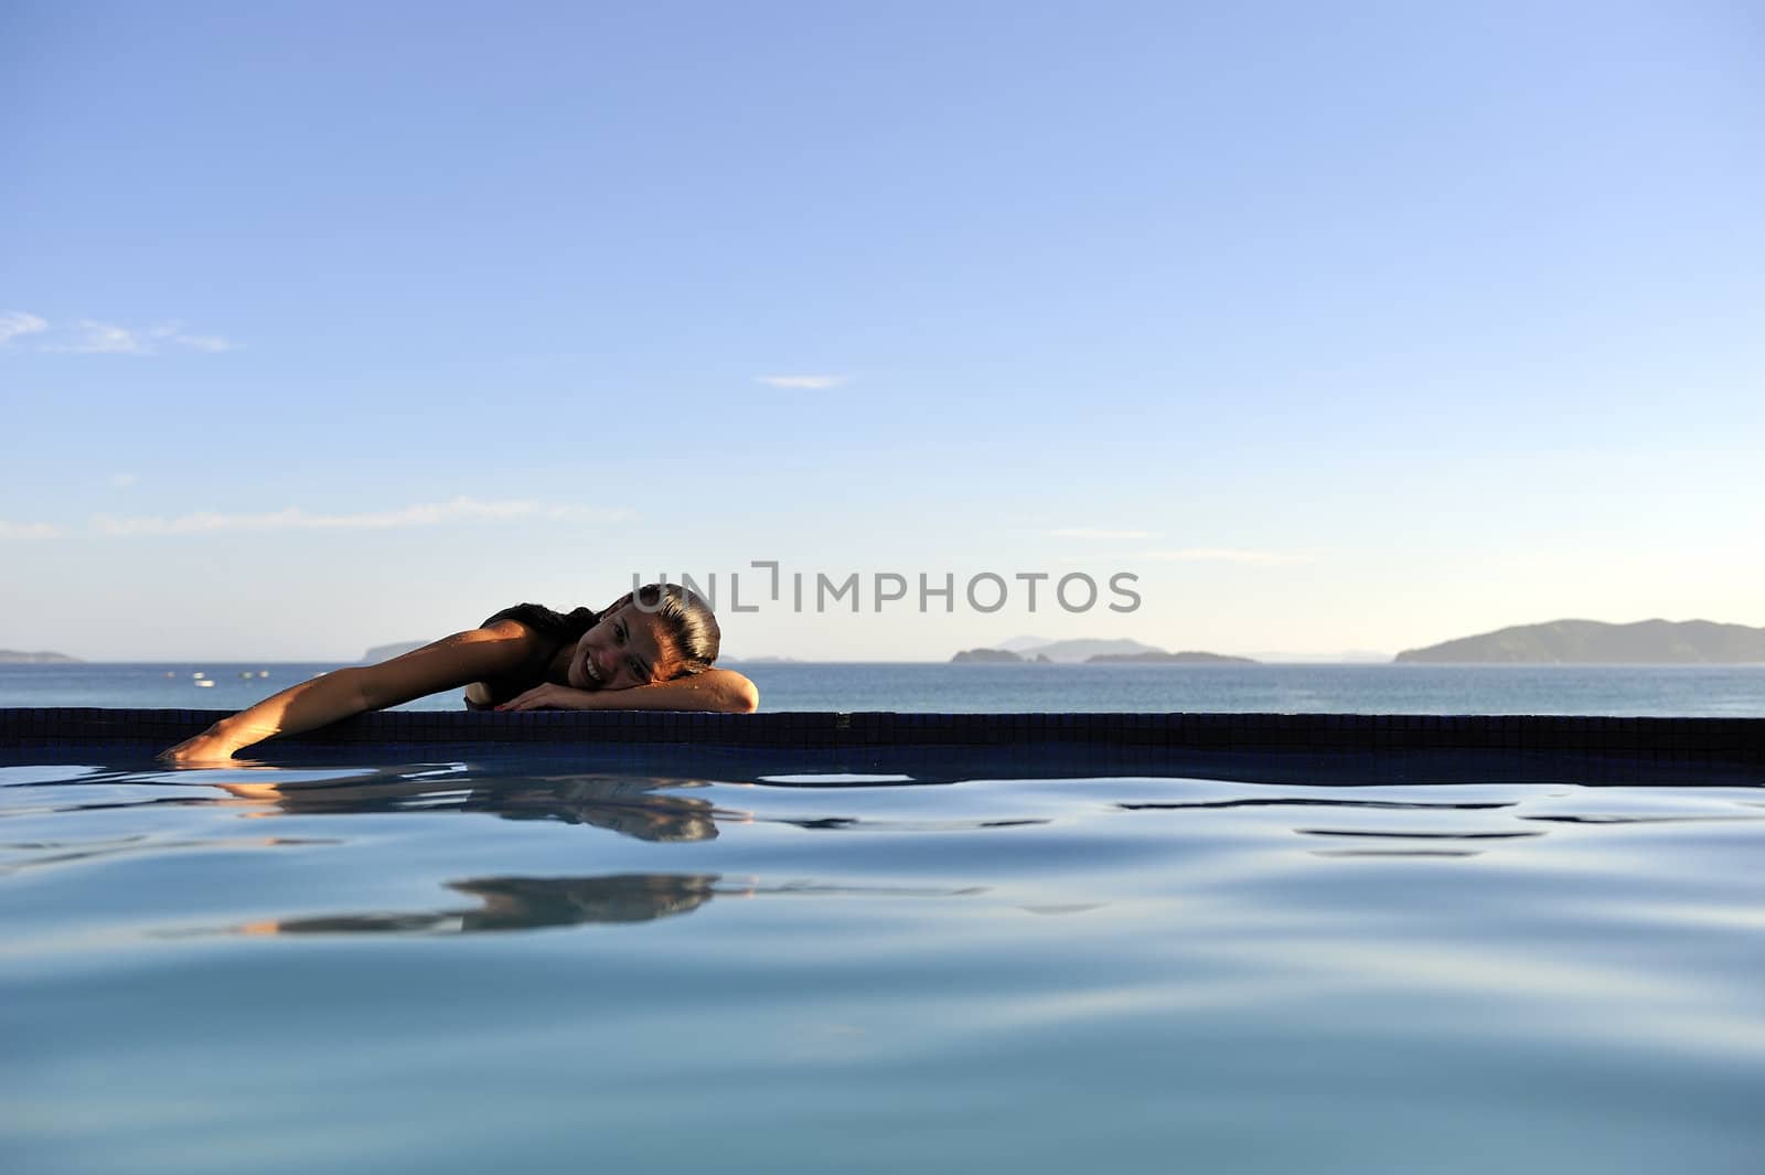
[(302, 681), (251, 709), (222, 718), (192, 739), (161, 752), (173, 764), (217, 762), (277, 734), (297, 734), (508, 672), (526, 658), (533, 637), (515, 621), (473, 628), (378, 665), (351, 665)]

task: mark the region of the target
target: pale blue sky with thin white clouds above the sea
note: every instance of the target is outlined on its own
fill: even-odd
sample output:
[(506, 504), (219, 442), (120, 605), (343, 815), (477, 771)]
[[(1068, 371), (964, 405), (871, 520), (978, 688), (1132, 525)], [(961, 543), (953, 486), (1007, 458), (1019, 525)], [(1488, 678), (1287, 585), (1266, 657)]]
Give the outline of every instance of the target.
[(0, 647), (1765, 625), (1765, 21), (1456, 7), (5, 5)]

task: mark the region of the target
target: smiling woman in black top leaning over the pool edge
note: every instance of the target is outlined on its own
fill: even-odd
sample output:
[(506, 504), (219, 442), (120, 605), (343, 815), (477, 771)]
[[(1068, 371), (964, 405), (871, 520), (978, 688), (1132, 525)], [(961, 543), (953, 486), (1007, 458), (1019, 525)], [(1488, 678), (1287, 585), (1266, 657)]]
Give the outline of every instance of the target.
[(224, 762), (277, 734), (295, 734), (466, 686), (473, 709), (710, 709), (759, 707), (754, 683), (711, 669), (722, 633), (711, 609), (676, 584), (646, 584), (604, 612), (503, 609), (478, 628), (379, 665), (304, 681), (222, 718), (161, 753), (175, 764)]

